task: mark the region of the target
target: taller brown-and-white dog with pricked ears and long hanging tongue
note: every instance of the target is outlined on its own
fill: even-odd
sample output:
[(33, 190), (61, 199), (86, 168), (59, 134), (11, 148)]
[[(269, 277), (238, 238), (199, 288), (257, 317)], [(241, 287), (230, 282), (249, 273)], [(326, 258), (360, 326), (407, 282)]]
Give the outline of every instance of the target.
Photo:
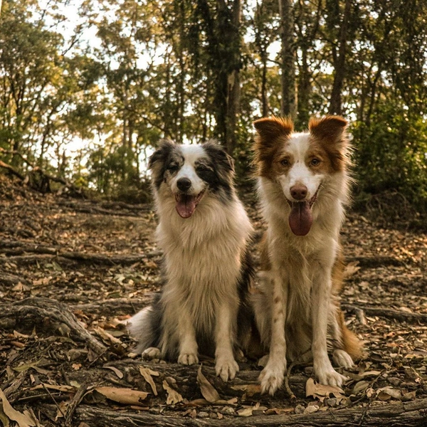
[[(361, 354), (344, 325), (337, 293), (342, 286), (339, 230), (349, 201), (349, 139), (342, 117), (312, 118), (309, 132), (293, 132), (291, 120), (255, 121), (258, 194), (268, 230), (261, 253), (255, 317), (270, 348), (260, 374), (263, 392), (282, 385), (286, 359), (312, 355), (322, 384), (341, 386), (334, 362), (352, 367)], [(310, 352), (311, 350), (311, 352)]]

